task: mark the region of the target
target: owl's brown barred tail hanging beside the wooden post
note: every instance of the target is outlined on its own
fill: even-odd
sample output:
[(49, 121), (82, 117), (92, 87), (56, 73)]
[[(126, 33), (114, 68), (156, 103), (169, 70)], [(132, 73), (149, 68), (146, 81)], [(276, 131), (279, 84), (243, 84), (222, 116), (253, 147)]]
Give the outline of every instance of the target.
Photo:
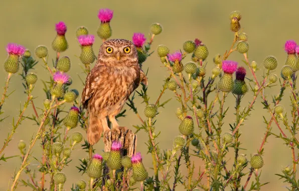
[(98, 118), (95, 115), (89, 114), (89, 127), (87, 129), (87, 141), (89, 144), (94, 145), (96, 144), (102, 135), (103, 126)]

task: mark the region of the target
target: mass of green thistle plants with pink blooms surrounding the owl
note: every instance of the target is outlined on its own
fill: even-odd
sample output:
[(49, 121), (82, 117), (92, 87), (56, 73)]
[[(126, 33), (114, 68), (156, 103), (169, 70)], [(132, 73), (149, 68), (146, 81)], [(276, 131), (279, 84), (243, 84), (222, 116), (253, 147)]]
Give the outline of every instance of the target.
[[(97, 33), (105, 41), (112, 37), (110, 21), (113, 11), (100, 9), (98, 18), (100, 26), (91, 33)], [(234, 11), (229, 19), (227, 25), (232, 31), (232, 44), (228, 45), (228, 50), (223, 50), (224, 54), (220, 52), (213, 57), (209, 54), (212, 47), (204, 39), (186, 39), (182, 47), (163, 45), (160, 39), (156, 39), (158, 35), (163, 36), (163, 27), (159, 23), (149, 24), (147, 38), (144, 33), (132, 31), (132, 42), (136, 46), (142, 70), (147, 71), (146, 75), (151, 75), (152, 67), (162, 66), (166, 77), (157, 100), (153, 100), (148, 91), (157, 86), (152, 85), (151, 81), (148, 86), (144, 83), (128, 99), (127, 106), (131, 110), (123, 110), (116, 116), (134, 115), (136, 121), (132, 122), (133, 127), (127, 128), (135, 130), (136, 136), (142, 131), (147, 135), (145, 141), (137, 139), (137, 144), (146, 144), (147, 150), (139, 151), (138, 147), (134, 147), (130, 156), (124, 152), (125, 140), (113, 141), (109, 152), (97, 151), (100, 154), (95, 154), (86, 140), (88, 112), (83, 110), (79, 101), (82, 86), (73, 82), (68, 74), (72, 64), (80, 62), (83, 72), (79, 77), (84, 85), (83, 79), (93, 67), (97, 52), (92, 46), (98, 40), (86, 27), (68, 31), (79, 42), (77, 60), (67, 55), (60, 57), (61, 53), (68, 53), (67, 25), (64, 22), (53, 25), (56, 29), (52, 41), (52, 49), (56, 52), (54, 56), (44, 45), (38, 45), (33, 54), (22, 45), (8, 44), (8, 57), (4, 62), (7, 76), (4, 79), (0, 115), (6, 114), (3, 108), (7, 107), (4, 103), (10, 96), (10, 79), (18, 78), (17, 73), (20, 73), (26, 94), (17, 118), (0, 118), (0, 122), (13, 121), (0, 150), (0, 163), (9, 162), (17, 156), (21, 159), (12, 181), (9, 181), (10, 190), (22, 189), (22, 186), (33, 190), (69, 190), (66, 184), (71, 183), (71, 190), (86, 190), (87, 187), (88, 190), (133, 190), (137, 187), (140, 190), (262, 190), (265, 184), (271, 183), (267, 182), (267, 177), (261, 179), (261, 173), (267, 173), (262, 169), (267, 166), (264, 145), (269, 141), (269, 136), (277, 138), (271, 140), (274, 144), (284, 144), (285, 149), (290, 151), (289, 165), (282, 169), (275, 168), (276, 175), (286, 182), (288, 190), (298, 190), (296, 72), (299, 70), (299, 45), (293, 40), (285, 42), (286, 58), (283, 63), (278, 63), (280, 59), (273, 55), (264, 55), (262, 63), (250, 62), (250, 34), (241, 30), (241, 13)], [(242, 59), (232, 60), (231, 54), (239, 54)], [(158, 56), (160, 65), (145, 67), (144, 63), (152, 55)], [(49, 64), (51, 59), (53, 67)], [(35, 70), (40, 61), (48, 73), (46, 81), (39, 80), (40, 74)], [(208, 68), (212, 68), (211, 71)], [(263, 76), (256, 74), (258, 70), (263, 70)], [(44, 85), (42, 103), (37, 103), (34, 97), (37, 83)], [(274, 85), (280, 87), (279, 91), (269, 99), (268, 90)], [(174, 99), (165, 98), (166, 91), (172, 93)], [(143, 108), (136, 107), (136, 97), (142, 100)], [(234, 107), (226, 102), (228, 97), (234, 99)], [(244, 97), (251, 99), (249, 104), (244, 103)], [(261, 104), (256, 102), (258, 98), (261, 98)], [(286, 104), (291, 105), (290, 110), (285, 109), (287, 105), (281, 103), (282, 98), (289, 101)], [(176, 102), (179, 108), (169, 112), (168, 105)], [(28, 113), (28, 107), (33, 108), (32, 115)], [(246, 148), (241, 146), (244, 142), (242, 129), (250, 128), (245, 124), (246, 120), (253, 120), (251, 114), (255, 111), (254, 107), (262, 107), (268, 115), (260, 119), (265, 123), (261, 145), (257, 151), (250, 150), (249, 156), (243, 153)], [(162, 112), (170, 113), (168, 120), (178, 118), (177, 125), (171, 127), (177, 132), (175, 137), (170, 138), (172, 147), (165, 149), (162, 149), (164, 145), (159, 144), (161, 123), (157, 116)], [(226, 118), (228, 113), (234, 113), (235, 119), (229, 121)], [(31, 140), (21, 140), (15, 145), (19, 155), (5, 156), (7, 146), (24, 120), (30, 120), (36, 126)], [(225, 127), (230, 129), (224, 131)], [(279, 134), (274, 133), (273, 129), (276, 128)], [(33, 149), (39, 149), (42, 154), (38, 155)], [(75, 149), (84, 150), (86, 154), (74, 158)], [(146, 163), (142, 162), (141, 153), (144, 158), (151, 158), (151, 166), (144, 165)], [(33, 164), (33, 159), (39, 164)], [(201, 163), (199, 169), (196, 168), (197, 163)], [(36, 166), (38, 169), (33, 170)], [(77, 179), (67, 178), (63, 172), (68, 168), (78, 170)], [(184, 174), (184, 171), (187, 173)], [(28, 180), (23, 179), (21, 174), (26, 174)]]

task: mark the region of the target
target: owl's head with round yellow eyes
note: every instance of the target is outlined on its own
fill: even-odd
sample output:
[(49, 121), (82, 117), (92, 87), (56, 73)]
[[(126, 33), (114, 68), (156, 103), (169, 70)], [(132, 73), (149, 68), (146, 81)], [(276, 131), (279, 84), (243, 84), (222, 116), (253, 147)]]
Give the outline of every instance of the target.
[(111, 39), (101, 45), (98, 61), (111, 65), (135, 65), (138, 64), (137, 50), (128, 40)]

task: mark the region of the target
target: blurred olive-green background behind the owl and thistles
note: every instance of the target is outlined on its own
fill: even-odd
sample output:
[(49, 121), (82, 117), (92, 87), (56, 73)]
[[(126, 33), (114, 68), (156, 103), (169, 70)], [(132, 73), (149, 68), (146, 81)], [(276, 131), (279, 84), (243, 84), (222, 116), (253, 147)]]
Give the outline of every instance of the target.
[[(298, 39), (297, 25), (297, 8), (299, 6), (298, 1), (78, 1), (78, 0), (65, 0), (65, 1), (2, 1), (0, 6), (0, 25), (2, 26), (2, 32), (0, 37), (0, 58), (3, 62), (7, 57), (5, 47), (8, 43), (18, 43), (24, 45), (26, 48), (34, 51), (35, 47), (43, 44), (49, 47), (50, 58), (55, 57), (55, 52), (51, 49), (51, 42), (54, 39), (55, 23), (64, 21), (67, 24), (68, 31), (66, 38), (69, 42), (69, 49), (62, 53), (62, 56), (67, 55), (71, 58), (72, 69), (69, 72), (73, 79), (72, 88), (77, 88), (80, 93), (82, 91), (82, 83), (79, 80), (78, 75), (85, 77), (81, 70), (81, 64), (78, 59), (80, 54), (80, 48), (78, 46), (75, 31), (79, 26), (86, 26), (89, 29), (90, 34), (96, 36), (96, 30), (99, 26), (99, 20), (97, 18), (98, 10), (101, 8), (109, 8), (114, 10), (114, 16), (111, 21), (111, 27), (113, 30), (112, 38), (125, 38), (131, 40), (131, 36), (134, 32), (142, 32), (148, 34), (149, 27), (154, 22), (159, 22), (164, 27), (162, 34), (155, 38), (153, 43), (153, 50), (159, 44), (164, 44), (170, 47), (171, 51), (179, 50), (182, 48), (182, 44), (186, 40), (194, 40), (199, 38), (209, 48), (210, 55), (207, 59), (207, 73), (210, 73), (210, 69), (213, 67), (212, 58), (215, 54), (220, 53), (223, 55), (225, 50), (228, 50), (233, 40), (233, 33), (229, 29), (230, 20), (229, 13), (238, 10), (242, 14), (242, 20), (240, 21), (241, 27), (245, 33), (249, 36), (249, 59), (255, 60), (259, 65), (267, 55), (274, 55), (279, 61), (278, 69), (275, 71), (279, 74), (279, 70), (285, 60), (285, 53), (283, 50), (284, 42), (288, 39)], [(94, 50), (97, 55), (98, 48), (101, 45), (101, 40), (96, 36)], [(185, 59), (188, 61), (190, 58)], [(242, 55), (234, 52), (230, 59), (238, 61), (240, 65), (242, 63)], [(261, 66), (261, 65), (260, 65)], [(155, 102), (159, 96), (160, 89), (163, 84), (163, 80), (168, 76), (168, 72), (162, 64), (156, 53), (149, 57), (143, 64), (143, 69), (146, 70), (150, 67), (148, 73), (148, 93), (151, 97), (150, 102)], [(262, 68), (262, 66), (261, 66)], [(35, 72), (38, 74), (40, 80), (47, 80), (49, 73), (43, 68), (43, 64), (40, 63), (36, 66)], [(257, 72), (258, 78), (262, 79), (261, 75), (263, 70)], [(0, 85), (4, 86), (6, 79), (6, 72), (0, 70)], [(250, 74), (248, 75), (250, 76)], [(42, 82), (36, 85), (33, 92), (37, 97), (35, 104), (37, 107), (42, 108), (43, 100), (45, 99), (42, 92)], [(21, 76), (14, 75), (11, 82), (9, 92), (15, 90), (15, 92), (7, 99), (3, 111), (5, 114), (2, 116), (9, 116), (5, 122), (0, 123), (0, 140), (4, 140), (12, 128), (12, 118), (18, 116), (20, 106), (26, 100), (26, 94), (21, 82)], [(3, 89), (0, 91), (3, 92)], [(265, 94), (270, 101), (271, 95), (278, 93), (278, 88), (273, 87), (271, 90), (266, 90)], [(173, 97), (173, 93), (167, 91), (163, 96), (162, 101)], [(248, 102), (252, 99), (252, 92), (246, 94), (241, 108), (248, 105)], [(285, 98), (288, 98), (288, 92), (285, 94)], [(243, 153), (247, 154), (250, 158), (250, 154), (256, 153), (260, 146), (262, 137), (265, 131), (265, 124), (263, 123), (262, 116), (265, 116), (267, 120), (270, 119), (269, 114), (263, 110), (260, 104), (259, 98), (254, 106), (255, 111), (251, 113), (248, 120), (241, 126), (241, 147), (244, 150)], [(143, 116), (143, 107), (141, 100), (136, 99), (137, 108), (140, 111), (141, 117)], [(228, 115), (224, 122), (224, 132), (229, 129), (229, 123), (234, 123), (234, 106), (235, 99), (230, 94), (225, 103), (225, 108), (230, 107)], [(288, 99), (283, 100), (282, 104), (289, 111), (290, 102)], [(161, 131), (159, 137), (159, 145), (161, 149), (168, 149), (172, 147), (172, 141), (175, 136), (179, 134), (178, 124), (179, 120), (175, 116), (175, 110), (179, 104), (173, 99), (165, 109), (160, 109), (160, 115), (157, 118), (157, 131)], [(67, 105), (66, 109), (70, 107)], [(127, 107), (125, 107), (128, 109)], [(26, 111), (26, 116), (31, 116), (32, 109)], [(39, 111), (41, 113), (41, 111)], [(288, 112), (290, 113), (290, 112)], [(133, 114), (132, 111), (127, 111), (127, 117), (120, 119), (122, 126), (127, 126), (133, 129), (132, 125), (140, 125), (139, 120)], [(273, 132), (278, 133), (277, 127), (273, 124)], [(76, 130), (79, 130), (78, 127)], [(37, 131), (37, 126), (32, 121), (25, 120), (22, 125), (17, 129), (13, 141), (6, 148), (6, 156), (18, 155), (19, 150), (17, 144), (19, 140), (25, 140), (28, 144), (31, 137)], [(72, 130), (74, 131), (74, 130)], [(85, 136), (85, 135), (84, 135)], [(150, 154), (146, 154), (147, 147), (144, 144), (144, 140), (148, 137), (144, 132), (139, 132), (138, 147), (137, 150), (141, 151), (143, 155), (143, 161), (150, 174), (152, 173), (152, 157)], [(287, 165), (291, 165), (291, 151), (283, 145), (283, 141), (275, 139), (273, 136), (268, 138), (268, 142), (265, 145), (264, 159), (265, 166), (262, 168), (261, 180), (262, 182), (270, 182), (262, 187), (262, 190), (285, 190), (286, 183), (281, 182), (275, 173), (280, 173), (281, 169)], [(2, 146), (2, 145), (1, 145)], [(102, 152), (103, 143), (100, 141), (95, 146), (98, 153)], [(233, 150), (231, 150), (233, 153)], [(69, 166), (65, 168), (64, 172), (67, 174), (67, 182), (65, 185), (66, 190), (70, 190), (72, 183), (75, 183), (80, 178), (87, 180), (87, 176), (78, 173), (75, 166), (79, 164), (79, 160), (85, 157), (87, 153), (80, 150), (77, 146), (76, 151), (72, 154), (73, 161), (69, 163)], [(34, 147), (33, 155), (37, 159), (41, 159), (41, 149), (39, 144)], [(197, 173), (199, 167), (203, 165), (201, 160), (196, 160)], [(231, 162), (233, 157), (228, 156), (229, 167), (231, 168)], [(38, 162), (31, 157), (30, 169), (38, 169)], [(0, 190), (6, 190), (8, 184), (12, 183), (12, 177), (14, 172), (19, 170), (21, 160), (19, 157), (9, 159), (8, 162), (1, 162), (0, 172), (2, 178), (0, 178)], [(182, 172), (186, 173), (185, 168), (182, 168)], [(39, 173), (38, 173), (39, 174)], [(40, 174), (39, 174), (40, 175)], [(21, 178), (28, 179), (23, 173)], [(245, 179), (245, 178), (244, 178)], [(253, 178), (252, 178), (253, 180)], [(205, 181), (205, 180), (203, 180)], [(244, 181), (244, 180), (243, 180)], [(180, 188), (183, 190), (183, 188)], [(19, 187), (17, 190), (31, 190), (30, 188)]]

